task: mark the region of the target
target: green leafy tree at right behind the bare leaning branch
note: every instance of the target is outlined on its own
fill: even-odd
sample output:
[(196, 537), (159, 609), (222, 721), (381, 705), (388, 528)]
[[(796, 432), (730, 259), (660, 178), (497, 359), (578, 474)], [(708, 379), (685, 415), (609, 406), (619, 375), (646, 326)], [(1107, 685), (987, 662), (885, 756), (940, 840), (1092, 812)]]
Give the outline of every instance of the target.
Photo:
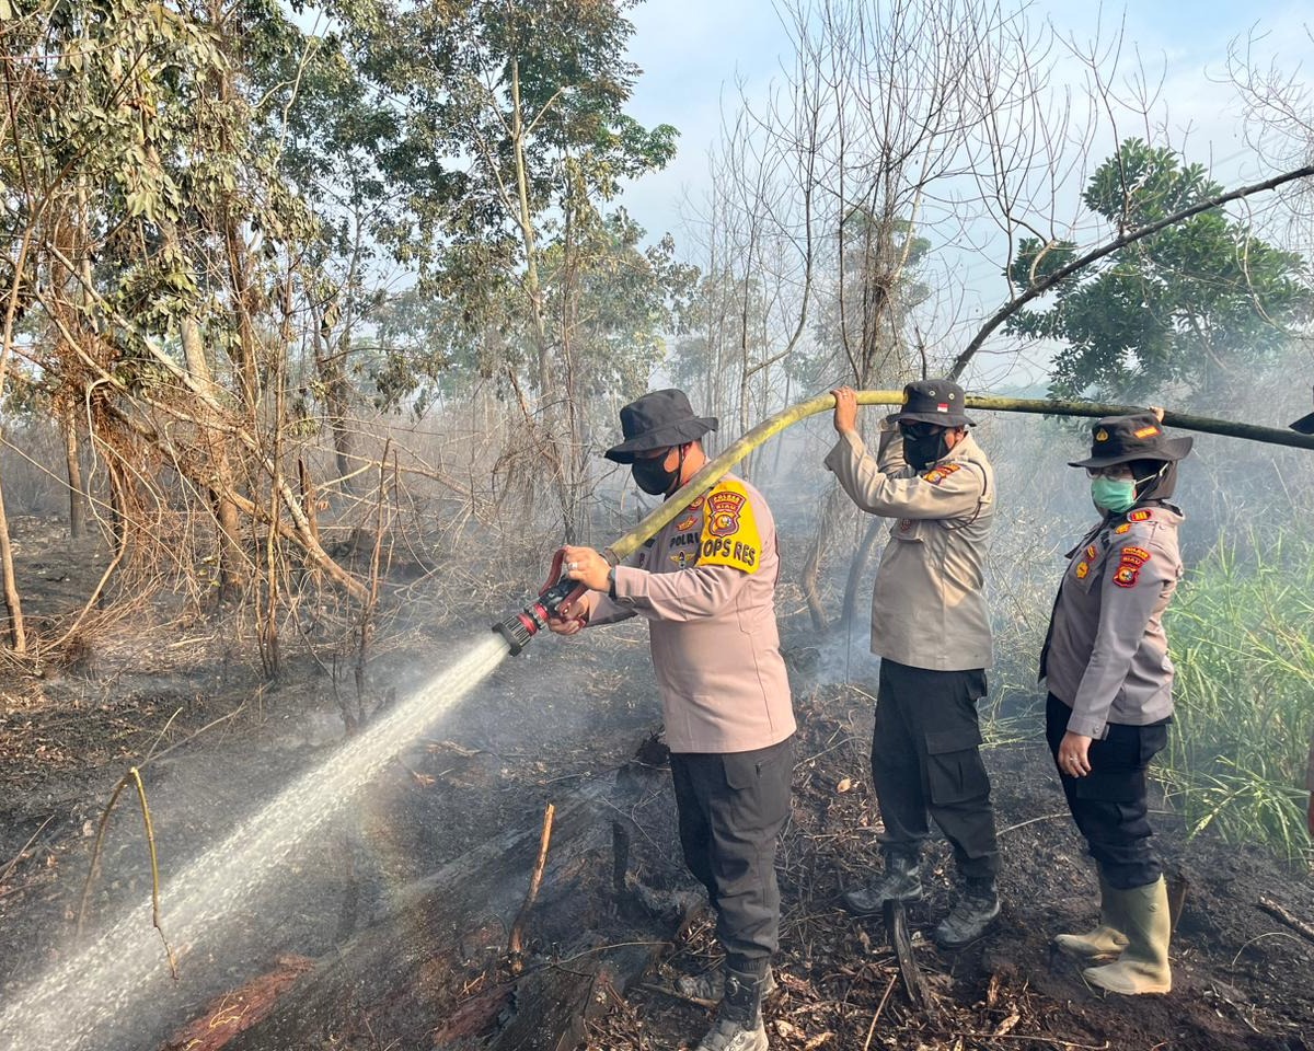
[[(1139, 139), (1101, 164), (1083, 200), (1117, 235), (1222, 193), (1200, 164)], [(1018, 288), (1076, 257), (1072, 242), (1022, 243)], [(1047, 310), (1020, 310), (1007, 331), (1062, 343), (1050, 390), (1144, 401), (1166, 386), (1212, 399), (1275, 360), (1310, 315), (1303, 259), (1214, 209), (1146, 236), (1053, 289)]]

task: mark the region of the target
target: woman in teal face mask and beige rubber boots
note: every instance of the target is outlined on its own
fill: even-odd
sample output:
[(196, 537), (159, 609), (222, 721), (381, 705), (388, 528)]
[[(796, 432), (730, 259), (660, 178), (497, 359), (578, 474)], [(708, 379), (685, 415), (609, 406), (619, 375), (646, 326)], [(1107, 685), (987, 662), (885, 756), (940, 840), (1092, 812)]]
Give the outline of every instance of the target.
[[(1150, 851), (1146, 767), (1168, 742), (1173, 667), (1163, 611), (1181, 577), (1168, 503), (1189, 437), (1168, 437), (1163, 410), (1095, 424), (1091, 476), (1099, 524), (1070, 552), (1041, 653), (1046, 737), (1068, 809), (1100, 870), (1100, 922), (1060, 934), (1091, 963), (1087, 981), (1117, 993), (1166, 993), (1168, 891)], [(1097, 966), (1099, 964), (1099, 966)]]

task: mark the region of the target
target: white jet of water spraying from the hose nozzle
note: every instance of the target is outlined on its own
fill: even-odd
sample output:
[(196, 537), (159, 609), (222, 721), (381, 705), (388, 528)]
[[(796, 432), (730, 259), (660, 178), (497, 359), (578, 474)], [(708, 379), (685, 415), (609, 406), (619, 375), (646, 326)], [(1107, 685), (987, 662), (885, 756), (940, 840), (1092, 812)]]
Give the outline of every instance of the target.
[(507, 656), (507, 644), (497, 636), (472, 646), (455, 666), (297, 778), (222, 843), (164, 884), (162, 926), (177, 951), (180, 983), (170, 977), (147, 899), (93, 945), (0, 1009), (0, 1048), (158, 1047), (163, 1037), (139, 1027), (143, 1005), (148, 1002), (158, 1009), (189, 1004), (189, 963), (193, 973), (206, 966), (208, 954), (222, 946), (225, 921), (239, 908), (250, 912), (260, 889), (280, 874), (300, 842), (339, 813), (385, 763), (451, 711)]

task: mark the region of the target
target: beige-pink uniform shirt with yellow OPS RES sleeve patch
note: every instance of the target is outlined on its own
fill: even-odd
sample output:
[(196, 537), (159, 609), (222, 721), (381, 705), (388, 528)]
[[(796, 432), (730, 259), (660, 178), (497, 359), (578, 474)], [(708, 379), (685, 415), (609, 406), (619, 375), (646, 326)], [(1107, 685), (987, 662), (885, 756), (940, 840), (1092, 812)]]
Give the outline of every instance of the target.
[(589, 593), (589, 625), (649, 621), (671, 751), (748, 751), (795, 730), (775, 624), (781, 571), (762, 494), (725, 476)]

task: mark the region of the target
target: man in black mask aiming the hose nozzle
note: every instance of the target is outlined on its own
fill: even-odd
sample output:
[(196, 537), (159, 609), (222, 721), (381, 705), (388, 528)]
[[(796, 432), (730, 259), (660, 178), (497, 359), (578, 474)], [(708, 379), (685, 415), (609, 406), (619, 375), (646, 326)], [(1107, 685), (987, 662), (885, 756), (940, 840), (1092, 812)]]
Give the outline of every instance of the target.
[[(670, 497), (707, 457), (679, 390), (620, 410), (629, 464), (645, 493)], [(762, 494), (727, 474), (612, 569), (591, 548), (565, 549), (566, 573), (591, 589), (548, 627), (641, 616), (649, 624), (685, 862), (707, 888), (725, 950), (712, 1029), (698, 1051), (766, 1051), (762, 996), (771, 985), (781, 893), (775, 838), (790, 813), (794, 709), (775, 624), (775, 523)]]

